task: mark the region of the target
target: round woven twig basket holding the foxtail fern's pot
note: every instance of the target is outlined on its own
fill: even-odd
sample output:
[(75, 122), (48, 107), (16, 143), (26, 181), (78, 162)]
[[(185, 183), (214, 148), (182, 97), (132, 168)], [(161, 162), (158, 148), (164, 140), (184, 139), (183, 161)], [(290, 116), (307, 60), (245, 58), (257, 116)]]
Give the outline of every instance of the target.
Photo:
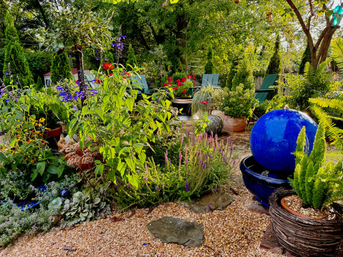
[(295, 195), (295, 191), (279, 188), (269, 198), (271, 226), (279, 243), (295, 256), (338, 257), (343, 236), (342, 208), (333, 205), (337, 220), (298, 217), (280, 205), (280, 200), (289, 195)]

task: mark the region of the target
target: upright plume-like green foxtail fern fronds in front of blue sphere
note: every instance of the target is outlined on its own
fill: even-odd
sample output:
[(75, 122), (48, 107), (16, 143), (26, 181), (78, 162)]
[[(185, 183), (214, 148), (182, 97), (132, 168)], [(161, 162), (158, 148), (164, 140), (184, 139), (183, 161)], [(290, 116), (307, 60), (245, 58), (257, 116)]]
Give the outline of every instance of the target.
[(309, 156), (304, 153), (305, 137), (303, 127), (297, 140), (296, 167), (294, 179), (290, 180), (291, 186), (305, 204), (322, 209), (343, 199), (343, 187), (335, 183), (335, 179), (342, 176), (342, 160), (336, 165), (325, 163), (325, 123), (319, 123), (313, 150)]

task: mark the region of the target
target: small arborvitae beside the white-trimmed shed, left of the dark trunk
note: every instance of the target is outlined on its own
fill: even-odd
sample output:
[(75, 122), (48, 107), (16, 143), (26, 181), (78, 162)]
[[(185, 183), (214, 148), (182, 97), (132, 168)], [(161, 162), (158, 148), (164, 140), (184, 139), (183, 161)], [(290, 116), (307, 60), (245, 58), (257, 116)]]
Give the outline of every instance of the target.
[(51, 83), (57, 83), (62, 78), (64, 79), (74, 79), (71, 72), (68, 54), (63, 51), (60, 54), (54, 54), (51, 60)]

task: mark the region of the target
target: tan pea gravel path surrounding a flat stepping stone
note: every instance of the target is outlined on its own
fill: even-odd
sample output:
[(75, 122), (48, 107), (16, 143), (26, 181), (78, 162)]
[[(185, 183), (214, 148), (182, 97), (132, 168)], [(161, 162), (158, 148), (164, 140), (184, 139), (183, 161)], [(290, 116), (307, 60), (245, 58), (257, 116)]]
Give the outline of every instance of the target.
[[(246, 210), (252, 195), (245, 191), (226, 210), (206, 214), (195, 214), (175, 203), (158, 206), (151, 213), (148, 209), (137, 209), (125, 220), (113, 222), (109, 217), (82, 223), (72, 229), (59, 228), (47, 234), (27, 235), (13, 247), (2, 249), (0, 256), (268, 256), (277, 257), (259, 249), (260, 240), (269, 224), (269, 218)], [(149, 221), (163, 216), (195, 221), (204, 227), (205, 242), (199, 248), (186, 248), (176, 244), (154, 241), (146, 229)], [(74, 252), (63, 250), (70, 246)]]

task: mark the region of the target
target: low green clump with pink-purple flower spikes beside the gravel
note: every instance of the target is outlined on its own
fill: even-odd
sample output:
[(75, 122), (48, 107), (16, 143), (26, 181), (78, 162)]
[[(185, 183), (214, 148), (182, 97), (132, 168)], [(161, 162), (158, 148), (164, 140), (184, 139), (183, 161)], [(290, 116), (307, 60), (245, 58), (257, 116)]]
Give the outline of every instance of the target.
[(142, 171), (144, 179), (140, 180), (137, 190), (125, 184), (114, 189), (119, 208), (187, 201), (204, 193), (216, 192), (228, 182), (234, 164), (232, 159), (236, 158), (229, 142), (224, 144), (217, 137), (206, 134), (188, 139), (182, 131), (172, 140), (178, 146), (177, 159), (170, 158), (168, 152), (160, 165), (149, 158)]

